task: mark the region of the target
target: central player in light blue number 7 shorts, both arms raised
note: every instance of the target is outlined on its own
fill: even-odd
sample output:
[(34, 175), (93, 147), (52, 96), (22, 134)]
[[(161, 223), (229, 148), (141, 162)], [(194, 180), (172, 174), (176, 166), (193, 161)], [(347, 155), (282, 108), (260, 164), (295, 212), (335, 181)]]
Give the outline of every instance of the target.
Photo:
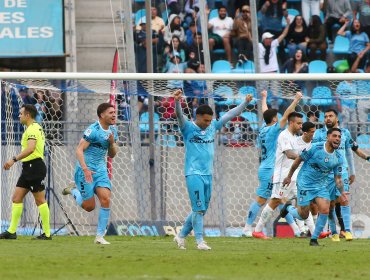
[(196, 111), (195, 121), (189, 121), (183, 115), (180, 104), (181, 89), (176, 90), (173, 97), (185, 143), (185, 179), (192, 209), (174, 241), (180, 249), (185, 249), (185, 237), (194, 230), (197, 248), (210, 250), (211, 247), (203, 240), (203, 217), (211, 200), (215, 136), (217, 130), (221, 130), (229, 120), (243, 112), (253, 97), (248, 94), (242, 104), (224, 114), (219, 120), (213, 119), (211, 107), (201, 105)]

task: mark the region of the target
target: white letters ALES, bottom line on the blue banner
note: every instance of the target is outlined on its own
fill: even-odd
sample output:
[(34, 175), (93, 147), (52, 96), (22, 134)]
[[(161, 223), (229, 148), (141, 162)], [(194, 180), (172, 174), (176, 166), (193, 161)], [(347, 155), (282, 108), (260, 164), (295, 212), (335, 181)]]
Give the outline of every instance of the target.
[(27, 27), (23, 33), (19, 27), (4, 27), (0, 29), (0, 39), (51, 38), (53, 35), (53, 28), (50, 26)]

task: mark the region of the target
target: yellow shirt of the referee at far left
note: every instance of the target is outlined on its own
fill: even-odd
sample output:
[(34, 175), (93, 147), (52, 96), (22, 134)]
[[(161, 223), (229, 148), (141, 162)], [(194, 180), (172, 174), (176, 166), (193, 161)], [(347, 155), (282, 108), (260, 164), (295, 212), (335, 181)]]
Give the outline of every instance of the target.
[(27, 141), (31, 139), (36, 140), (36, 148), (28, 157), (21, 159), (22, 162), (30, 161), (36, 158), (44, 159), (45, 134), (42, 130), (42, 127), (37, 122), (32, 123), (23, 133), (21, 142), (22, 151), (27, 148)]

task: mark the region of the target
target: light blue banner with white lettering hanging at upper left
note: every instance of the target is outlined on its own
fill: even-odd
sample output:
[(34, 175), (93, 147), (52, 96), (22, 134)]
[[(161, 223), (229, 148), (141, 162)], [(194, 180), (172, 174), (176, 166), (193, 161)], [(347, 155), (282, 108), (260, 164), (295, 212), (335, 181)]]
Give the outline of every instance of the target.
[(0, 1), (0, 57), (59, 55), (63, 0)]

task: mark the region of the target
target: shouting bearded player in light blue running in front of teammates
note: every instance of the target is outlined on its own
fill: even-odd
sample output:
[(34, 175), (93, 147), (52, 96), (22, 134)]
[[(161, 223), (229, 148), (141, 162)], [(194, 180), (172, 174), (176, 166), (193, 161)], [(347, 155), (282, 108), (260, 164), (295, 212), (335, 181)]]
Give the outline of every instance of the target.
[(313, 144), (310, 149), (303, 150), (295, 159), (290, 168), (288, 176), (284, 179), (283, 185), (289, 185), (294, 171), (303, 161), (297, 178), (297, 205), (293, 207), (287, 202), (280, 212), (281, 217), (288, 213), (293, 217), (306, 219), (310, 211), (311, 201), (315, 201), (319, 209), (319, 217), (316, 221), (315, 231), (311, 236), (310, 245), (318, 246), (317, 238), (322, 232), (329, 215), (330, 194), (327, 188), (331, 173), (334, 173), (336, 186), (341, 193), (340, 199), (347, 200), (347, 192), (342, 182), (343, 157), (338, 151), (341, 142), (341, 130), (330, 128), (327, 131), (326, 142)]

